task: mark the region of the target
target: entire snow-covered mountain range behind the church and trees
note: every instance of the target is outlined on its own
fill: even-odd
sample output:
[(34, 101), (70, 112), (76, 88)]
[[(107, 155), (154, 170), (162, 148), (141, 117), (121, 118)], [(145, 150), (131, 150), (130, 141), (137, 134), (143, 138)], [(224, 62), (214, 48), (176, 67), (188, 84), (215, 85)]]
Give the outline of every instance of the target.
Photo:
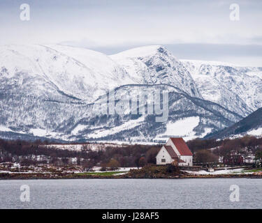
[[(198, 72), (201, 69), (192, 62), (178, 61), (161, 46), (139, 47), (111, 56), (61, 45), (2, 46), (0, 137), (152, 141), (180, 135), (191, 139), (233, 125), (261, 105), (256, 96), (261, 93), (260, 77), (256, 76), (260, 68), (242, 68), (236, 73), (237, 68), (206, 66), (221, 70), (219, 75), (218, 71), (210, 75), (219, 79), (216, 84), (225, 74), (231, 90), (228, 98), (226, 86), (219, 84), (214, 92), (203, 91), (208, 86), (201, 85), (198, 76), (208, 76), (207, 72)], [(213, 84), (210, 76), (206, 79)], [(247, 81), (240, 82), (246, 76), (253, 84), (247, 95)], [(229, 88), (231, 82), (241, 95)], [(235, 83), (242, 86), (237, 89)], [(127, 95), (168, 91), (168, 119), (158, 123), (156, 114), (100, 114), (94, 102), (112, 89), (115, 105)], [(214, 100), (216, 95), (223, 100)]]

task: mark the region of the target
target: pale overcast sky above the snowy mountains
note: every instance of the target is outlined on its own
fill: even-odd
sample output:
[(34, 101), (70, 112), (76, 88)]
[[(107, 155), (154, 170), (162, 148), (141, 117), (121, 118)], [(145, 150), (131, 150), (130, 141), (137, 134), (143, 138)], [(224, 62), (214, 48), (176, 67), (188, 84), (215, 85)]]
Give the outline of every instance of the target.
[[(20, 20), (20, 5), (31, 20)], [(231, 21), (231, 3), (240, 20)], [(261, 0), (0, 0), (0, 45), (64, 44), (113, 54), (165, 45), (178, 59), (262, 66)]]

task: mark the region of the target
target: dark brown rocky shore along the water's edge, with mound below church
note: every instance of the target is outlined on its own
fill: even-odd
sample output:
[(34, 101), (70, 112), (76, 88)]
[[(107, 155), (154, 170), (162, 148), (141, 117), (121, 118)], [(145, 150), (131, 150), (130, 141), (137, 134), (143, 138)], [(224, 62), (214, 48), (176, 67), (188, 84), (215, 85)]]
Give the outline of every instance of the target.
[[(106, 173), (106, 172), (105, 172)], [(131, 169), (122, 174), (101, 175), (96, 173), (78, 173), (66, 171), (52, 171), (45, 173), (0, 173), (0, 180), (8, 179), (90, 179), (90, 178), (262, 178), (261, 172), (253, 174), (189, 174), (181, 171), (179, 167), (172, 165), (156, 166), (150, 165), (141, 169)]]

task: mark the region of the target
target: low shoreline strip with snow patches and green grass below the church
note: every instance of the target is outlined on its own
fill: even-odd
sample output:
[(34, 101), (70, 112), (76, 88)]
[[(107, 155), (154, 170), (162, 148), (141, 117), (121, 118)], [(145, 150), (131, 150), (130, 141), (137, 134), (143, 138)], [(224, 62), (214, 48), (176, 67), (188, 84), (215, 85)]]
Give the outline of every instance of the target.
[[(35, 171), (34, 171), (35, 170)], [(20, 167), (19, 169), (6, 168), (0, 172), (0, 180), (31, 180), (31, 179), (187, 179), (187, 178), (262, 178), (262, 169), (253, 171), (235, 169), (232, 171), (184, 170), (173, 165), (151, 164), (140, 169), (111, 169), (110, 171), (72, 171), (71, 167), (55, 169)]]

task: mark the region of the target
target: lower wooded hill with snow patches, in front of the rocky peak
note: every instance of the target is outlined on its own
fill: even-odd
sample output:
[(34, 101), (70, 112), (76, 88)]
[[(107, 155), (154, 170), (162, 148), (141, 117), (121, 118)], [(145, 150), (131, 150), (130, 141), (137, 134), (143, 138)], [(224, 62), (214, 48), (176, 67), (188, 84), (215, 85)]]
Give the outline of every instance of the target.
[[(81, 118), (68, 131), (68, 139), (84, 141), (163, 141), (167, 137), (180, 134), (187, 139), (202, 137), (211, 131), (217, 131), (232, 125), (242, 117), (224, 109), (214, 102), (194, 98), (187, 93), (177, 92), (174, 86), (159, 85), (126, 85), (115, 92), (117, 98), (123, 98), (124, 91), (130, 95), (140, 95), (148, 91), (168, 91), (168, 118), (156, 122), (156, 114), (115, 114), (103, 115), (99, 112)], [(124, 90), (124, 91), (123, 91)], [(117, 99), (118, 100), (118, 99)], [(159, 106), (160, 102), (154, 101)], [(189, 126), (186, 126), (189, 125)], [(81, 130), (77, 133), (75, 128)], [(85, 126), (85, 128), (83, 128)], [(175, 129), (174, 129), (175, 128)], [(72, 134), (75, 132), (76, 134)]]

